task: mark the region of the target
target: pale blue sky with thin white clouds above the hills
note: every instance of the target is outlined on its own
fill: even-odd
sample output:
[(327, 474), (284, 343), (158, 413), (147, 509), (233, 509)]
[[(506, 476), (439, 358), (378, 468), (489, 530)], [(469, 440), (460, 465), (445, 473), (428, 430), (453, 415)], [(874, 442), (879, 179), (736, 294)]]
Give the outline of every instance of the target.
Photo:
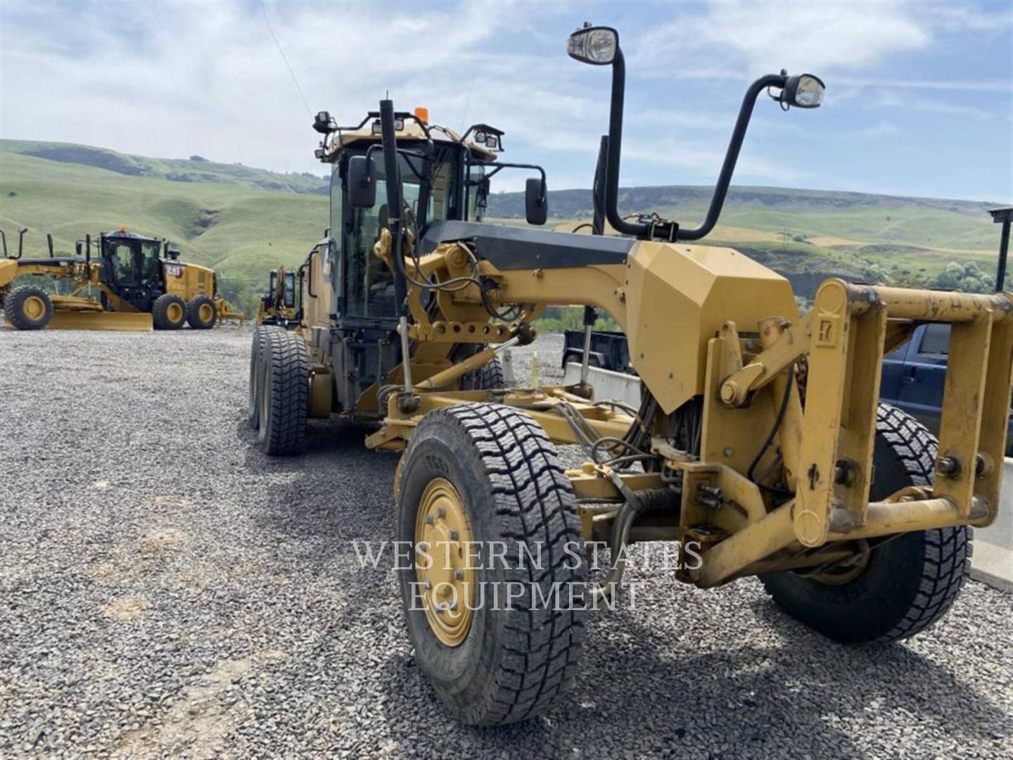
[(311, 113), (357, 124), (389, 92), (589, 187), (611, 70), (565, 55), (585, 21), (626, 58), (623, 185), (712, 184), (747, 86), (784, 68), (825, 105), (762, 96), (734, 183), (1013, 203), (1010, 0), (0, 0), (0, 137), (322, 174)]

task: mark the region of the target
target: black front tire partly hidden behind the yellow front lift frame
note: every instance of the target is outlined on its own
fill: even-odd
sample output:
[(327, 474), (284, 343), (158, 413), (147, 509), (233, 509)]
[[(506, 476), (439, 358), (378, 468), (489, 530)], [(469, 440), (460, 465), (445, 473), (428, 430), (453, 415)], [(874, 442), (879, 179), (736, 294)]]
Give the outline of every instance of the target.
[[(932, 480), (936, 439), (910, 414), (880, 403), (870, 498)], [(971, 529), (907, 533), (873, 549), (860, 576), (841, 585), (795, 573), (763, 576), (789, 615), (838, 641), (889, 642), (925, 630), (949, 610), (970, 573)]]

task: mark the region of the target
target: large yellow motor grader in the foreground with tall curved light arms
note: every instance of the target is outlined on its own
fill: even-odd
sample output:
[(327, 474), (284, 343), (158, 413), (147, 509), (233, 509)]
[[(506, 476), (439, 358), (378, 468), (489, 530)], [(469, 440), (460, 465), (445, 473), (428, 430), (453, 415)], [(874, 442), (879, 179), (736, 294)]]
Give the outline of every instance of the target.
[[(301, 333), (261, 327), (253, 339), (260, 445), (298, 451), (307, 419), (337, 413), (374, 424), (367, 447), (400, 452), (397, 538), (415, 557), (399, 572), (407, 631), (421, 672), (468, 724), (525, 719), (564, 692), (591, 610), (622, 594), (627, 547), (640, 541), (674, 542), (686, 559), (676, 577), (700, 588), (759, 576), (833, 639), (926, 629), (967, 575), (969, 528), (996, 518), (1013, 297), (830, 279), (799, 314), (783, 277), (697, 241), (718, 219), (757, 99), (815, 107), (823, 82), (782, 71), (750, 85), (706, 217), (690, 227), (618, 211), (618, 33), (580, 28), (568, 53), (612, 70), (596, 204), (622, 237), (482, 223), (488, 178), (508, 166), (538, 173), (527, 218), (547, 217), (544, 172), (498, 160), (502, 133), (485, 126), (461, 136), (390, 100), (354, 127), (317, 116), (330, 234), (310, 258)], [(547, 304), (619, 323), (639, 408), (595, 398), (586, 382), (469, 384), (535, 337)], [(926, 322), (952, 326), (959, 358), (938, 441), (876, 401), (883, 355)], [(565, 469), (556, 447), (574, 444), (587, 463)], [(598, 578), (592, 541), (610, 547)], [(483, 561), (498, 543), (504, 552)], [(503, 586), (519, 591), (475, 603)]]

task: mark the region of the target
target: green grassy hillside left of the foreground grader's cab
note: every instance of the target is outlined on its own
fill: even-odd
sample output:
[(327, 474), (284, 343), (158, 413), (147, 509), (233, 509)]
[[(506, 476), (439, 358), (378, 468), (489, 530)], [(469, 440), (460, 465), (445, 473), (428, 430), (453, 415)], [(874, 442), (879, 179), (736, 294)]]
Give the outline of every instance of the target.
[(177, 243), (183, 258), (234, 277), (259, 277), (297, 263), (326, 226), (324, 196), (252, 189), (242, 184), (179, 182), (0, 152), (0, 227), (16, 245), (43, 252), (46, 232), (71, 252), (84, 234), (131, 230)]

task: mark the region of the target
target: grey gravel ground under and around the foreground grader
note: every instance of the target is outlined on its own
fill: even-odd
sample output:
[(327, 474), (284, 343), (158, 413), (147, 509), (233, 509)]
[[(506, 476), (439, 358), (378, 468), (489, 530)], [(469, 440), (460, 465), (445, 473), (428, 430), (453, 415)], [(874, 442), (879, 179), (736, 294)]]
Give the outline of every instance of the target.
[(249, 334), (0, 330), (0, 756), (1013, 756), (1013, 596), (977, 583), (927, 634), (846, 649), (752, 580), (653, 578), (546, 716), (451, 723), (394, 573), (349, 543), (391, 538), (396, 457), (341, 423), (261, 456)]

